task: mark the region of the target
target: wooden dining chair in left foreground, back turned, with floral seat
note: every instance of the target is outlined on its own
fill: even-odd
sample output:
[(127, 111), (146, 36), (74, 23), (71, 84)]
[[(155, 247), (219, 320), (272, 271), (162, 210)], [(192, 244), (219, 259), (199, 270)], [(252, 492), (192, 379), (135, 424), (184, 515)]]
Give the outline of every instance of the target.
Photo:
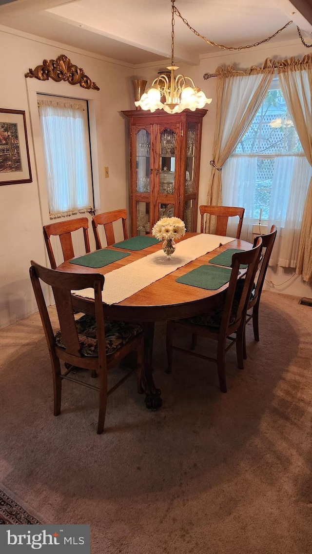
[[(54, 416), (60, 414), (63, 379), (82, 384), (99, 391), (98, 433), (101, 434), (104, 430), (107, 397), (135, 370), (137, 371), (138, 389), (139, 392), (142, 392), (141, 380), (144, 363), (142, 327), (137, 323), (104, 320), (102, 302), (104, 275), (65, 273), (44, 268), (35, 261), (31, 262), (29, 272), (52, 365)], [(52, 286), (60, 326), (60, 330), (55, 334), (45, 305), (40, 280)], [(95, 316), (83, 315), (80, 319), (75, 320), (71, 290), (86, 288), (94, 289)], [(108, 391), (108, 371), (132, 351), (136, 352), (136, 367), (132, 368)], [(66, 363), (67, 370), (63, 373), (60, 361)], [(76, 366), (96, 371), (99, 376), (99, 387), (69, 377), (70, 372), (74, 371)]]

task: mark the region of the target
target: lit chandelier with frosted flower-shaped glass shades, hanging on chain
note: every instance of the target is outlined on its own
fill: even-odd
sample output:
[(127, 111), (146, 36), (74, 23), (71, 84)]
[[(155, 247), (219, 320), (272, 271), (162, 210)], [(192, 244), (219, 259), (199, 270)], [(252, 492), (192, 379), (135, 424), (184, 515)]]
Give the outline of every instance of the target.
[[(153, 82), (146, 93), (142, 94), (141, 99), (135, 102), (142, 110), (165, 110), (168, 114), (178, 114), (183, 110), (189, 109), (195, 111), (196, 108), (202, 108), (210, 104), (212, 98), (206, 98), (203, 91), (195, 86), (191, 77), (177, 75), (175, 70), (175, 45), (174, 45), (174, 25), (175, 25), (175, 0), (171, 0), (171, 65), (167, 67), (170, 70), (170, 80), (167, 75), (160, 74)], [(161, 97), (165, 97), (165, 102), (161, 102)]]

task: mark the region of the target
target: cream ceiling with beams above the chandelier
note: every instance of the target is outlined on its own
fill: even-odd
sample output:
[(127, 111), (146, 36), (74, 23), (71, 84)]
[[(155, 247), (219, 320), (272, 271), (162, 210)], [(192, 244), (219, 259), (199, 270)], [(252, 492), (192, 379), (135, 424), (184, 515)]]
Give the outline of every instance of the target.
[[(209, 40), (238, 47), (269, 37), (290, 19), (293, 23), (272, 42), (298, 39), (299, 25), (310, 43), (310, 3), (176, 0), (175, 6)], [(130, 65), (171, 58), (171, 0), (0, 0), (0, 22)], [(196, 65), (201, 55), (213, 52), (219, 49), (197, 37), (175, 16), (176, 62)]]

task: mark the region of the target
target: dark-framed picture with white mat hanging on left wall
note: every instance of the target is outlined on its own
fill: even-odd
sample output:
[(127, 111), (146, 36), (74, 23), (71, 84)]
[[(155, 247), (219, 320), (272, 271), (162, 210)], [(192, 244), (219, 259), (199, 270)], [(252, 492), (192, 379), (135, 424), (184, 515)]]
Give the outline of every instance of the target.
[(25, 112), (0, 108), (0, 185), (32, 180)]

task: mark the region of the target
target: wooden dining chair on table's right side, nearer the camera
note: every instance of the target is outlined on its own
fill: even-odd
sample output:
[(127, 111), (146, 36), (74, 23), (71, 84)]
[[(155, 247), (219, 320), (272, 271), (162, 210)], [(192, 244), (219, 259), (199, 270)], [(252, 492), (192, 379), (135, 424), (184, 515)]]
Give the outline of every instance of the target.
[[(254, 276), (258, 268), (258, 263), (262, 250), (262, 239), (258, 238), (255, 247), (245, 252), (237, 252), (232, 256), (232, 271), (229, 279), (229, 285), (226, 290), (223, 303), (216, 309), (204, 314), (167, 322), (167, 373), (171, 373), (172, 368), (172, 350), (188, 352), (192, 356), (204, 358), (217, 363), (219, 383), (222, 392), (227, 392), (226, 385), (226, 352), (236, 344), (238, 367), (243, 369), (243, 336), (245, 327), (245, 317), (247, 312), (248, 299), (252, 290)], [(248, 264), (244, 279), (242, 279), (242, 289), (239, 298), (235, 297), (239, 266)], [(186, 285), (187, 286), (187, 285)], [(176, 329), (186, 329), (192, 333), (191, 350), (173, 346), (172, 335)], [(232, 335), (235, 336), (232, 336)], [(204, 356), (193, 350), (196, 346), (195, 336), (213, 338), (217, 341), (217, 357)], [(227, 339), (229, 344), (227, 345)]]

